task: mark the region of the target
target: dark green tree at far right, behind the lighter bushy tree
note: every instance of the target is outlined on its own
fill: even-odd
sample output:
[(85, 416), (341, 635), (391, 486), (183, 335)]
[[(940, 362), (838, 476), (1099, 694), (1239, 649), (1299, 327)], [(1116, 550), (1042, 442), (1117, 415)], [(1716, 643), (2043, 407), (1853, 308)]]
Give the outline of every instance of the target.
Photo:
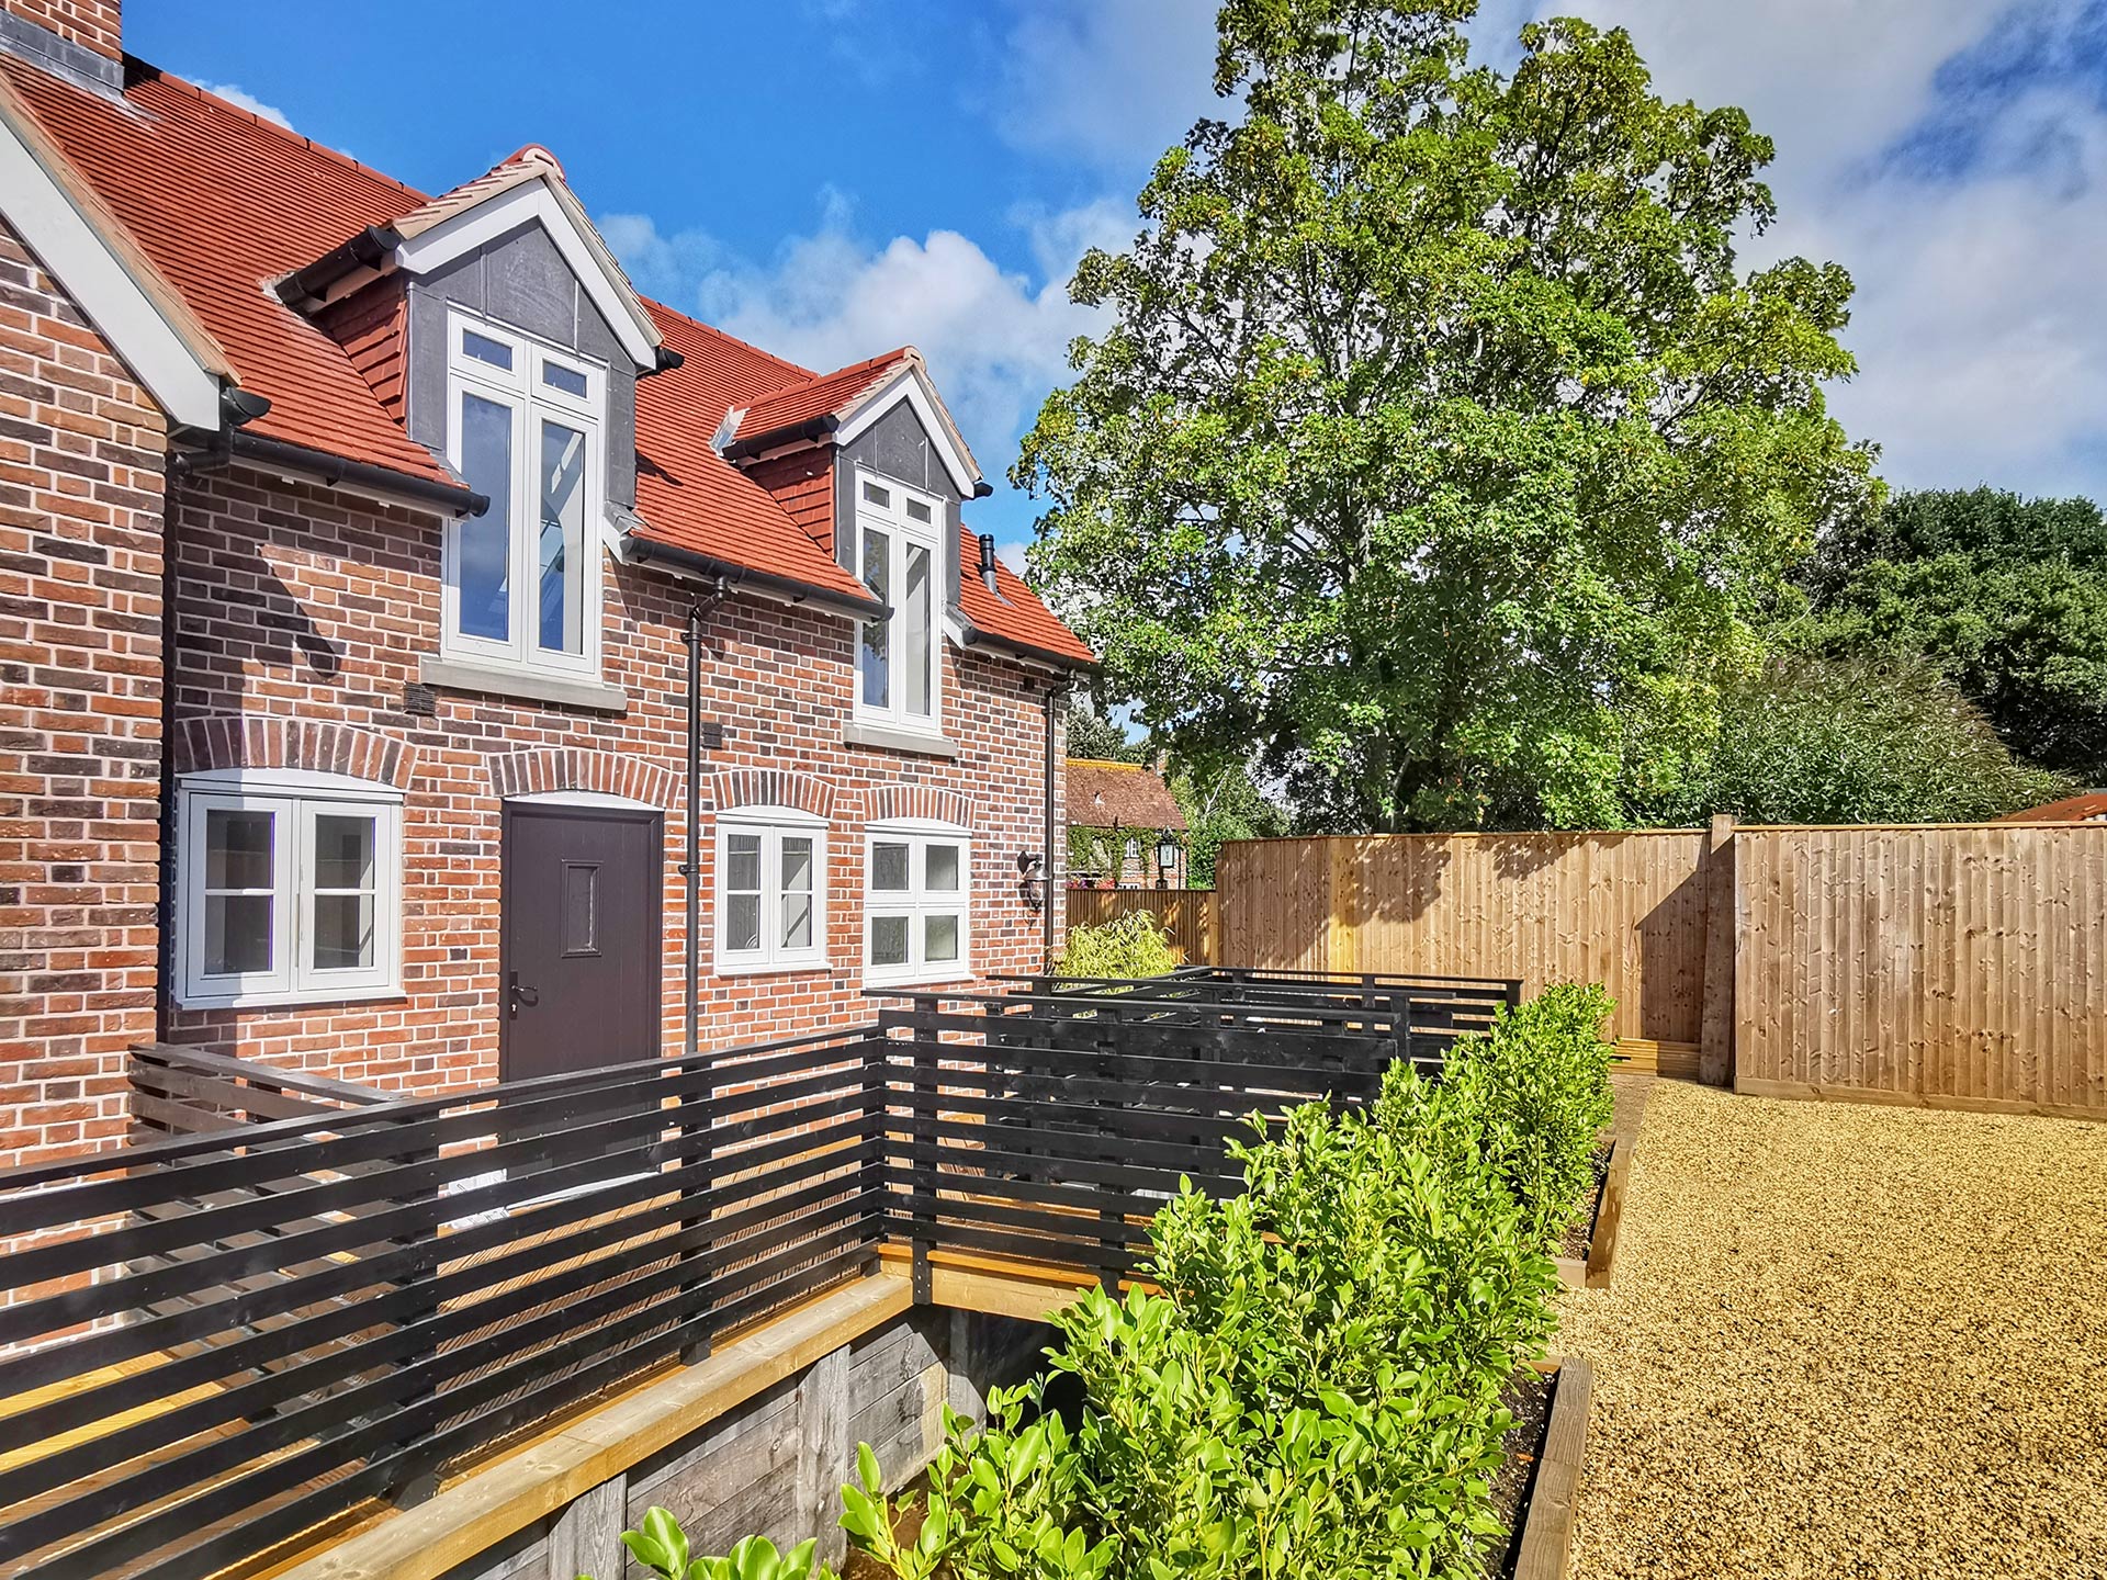
[(1903, 493), (1825, 533), (1799, 581), (1816, 651), (1924, 655), (2014, 752), (2107, 784), (2107, 520), (2090, 499)]

